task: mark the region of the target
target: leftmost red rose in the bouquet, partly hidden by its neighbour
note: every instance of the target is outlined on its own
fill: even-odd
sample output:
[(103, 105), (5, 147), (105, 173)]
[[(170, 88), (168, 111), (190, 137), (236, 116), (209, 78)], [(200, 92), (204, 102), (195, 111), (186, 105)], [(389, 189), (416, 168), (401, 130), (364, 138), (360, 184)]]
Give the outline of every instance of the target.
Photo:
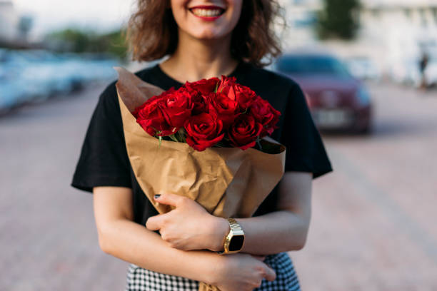
[(150, 98), (134, 111), (136, 122), (151, 136), (170, 136), (176, 133), (176, 128), (167, 123), (161, 106), (159, 106), (164, 98), (165, 92), (160, 96)]

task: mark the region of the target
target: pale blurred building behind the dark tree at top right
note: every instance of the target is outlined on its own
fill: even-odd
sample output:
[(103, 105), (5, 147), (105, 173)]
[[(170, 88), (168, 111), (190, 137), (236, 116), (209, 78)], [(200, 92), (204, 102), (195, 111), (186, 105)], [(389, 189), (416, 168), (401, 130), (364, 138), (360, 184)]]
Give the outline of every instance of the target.
[[(316, 45), (313, 24), (323, 0), (281, 0), (290, 29), (286, 48)], [(326, 41), (336, 53), (346, 57), (368, 57), (381, 71), (393, 63), (415, 62), (426, 51), (437, 58), (437, 0), (361, 0), (361, 29), (356, 41)]]

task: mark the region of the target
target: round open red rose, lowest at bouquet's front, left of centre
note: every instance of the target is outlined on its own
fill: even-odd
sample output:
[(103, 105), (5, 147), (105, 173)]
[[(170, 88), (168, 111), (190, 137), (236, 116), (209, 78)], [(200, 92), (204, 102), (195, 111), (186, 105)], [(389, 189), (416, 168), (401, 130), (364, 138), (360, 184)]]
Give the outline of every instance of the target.
[(195, 150), (205, 150), (223, 139), (223, 123), (214, 114), (201, 113), (186, 121), (186, 143)]

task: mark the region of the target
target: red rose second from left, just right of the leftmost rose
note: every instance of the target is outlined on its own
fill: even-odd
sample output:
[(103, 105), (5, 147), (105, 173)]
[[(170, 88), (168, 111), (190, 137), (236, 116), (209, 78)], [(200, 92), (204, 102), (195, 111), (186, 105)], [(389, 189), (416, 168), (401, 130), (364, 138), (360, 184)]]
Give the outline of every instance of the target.
[(184, 126), (185, 121), (191, 116), (193, 105), (191, 103), (191, 93), (186, 88), (181, 87), (177, 91), (167, 93), (163, 101), (159, 102), (164, 117), (170, 126), (179, 128)]

